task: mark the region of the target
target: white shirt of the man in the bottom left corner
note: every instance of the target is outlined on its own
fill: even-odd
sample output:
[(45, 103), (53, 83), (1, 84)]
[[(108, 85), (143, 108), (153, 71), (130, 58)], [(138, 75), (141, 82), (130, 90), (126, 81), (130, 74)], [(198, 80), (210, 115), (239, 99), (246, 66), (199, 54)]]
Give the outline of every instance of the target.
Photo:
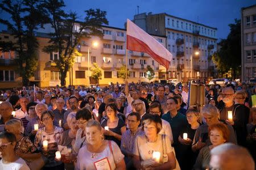
[(12, 163), (3, 163), (3, 159), (0, 160), (0, 169), (10, 169), (10, 170), (30, 170), (26, 162), (19, 158), (15, 162)]

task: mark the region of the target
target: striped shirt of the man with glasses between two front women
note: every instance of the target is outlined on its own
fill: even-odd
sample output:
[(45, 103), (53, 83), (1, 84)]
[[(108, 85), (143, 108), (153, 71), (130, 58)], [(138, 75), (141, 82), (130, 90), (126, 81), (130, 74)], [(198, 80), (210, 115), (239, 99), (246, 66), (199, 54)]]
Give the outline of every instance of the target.
[(121, 151), (127, 150), (133, 152), (134, 141), (137, 135), (143, 135), (144, 131), (141, 128), (138, 128), (135, 133), (131, 133), (131, 130), (126, 130), (125, 133), (122, 134), (121, 139)]

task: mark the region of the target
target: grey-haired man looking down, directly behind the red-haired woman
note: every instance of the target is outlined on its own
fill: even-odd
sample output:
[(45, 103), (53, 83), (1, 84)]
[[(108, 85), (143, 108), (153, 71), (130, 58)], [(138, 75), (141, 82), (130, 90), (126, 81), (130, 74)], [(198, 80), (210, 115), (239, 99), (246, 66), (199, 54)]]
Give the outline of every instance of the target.
[[(192, 143), (193, 151), (199, 151), (205, 145), (207, 146), (211, 145), (209, 135), (208, 135), (208, 126), (220, 122), (218, 120), (220, 113), (218, 112), (218, 109), (213, 105), (210, 105), (210, 104), (205, 105), (201, 112), (203, 114), (203, 121), (205, 121), (205, 124), (199, 126), (199, 128), (196, 129), (195, 137)], [(227, 127), (229, 129), (229, 134), (230, 134), (228, 138), (228, 142), (237, 144), (237, 139), (236, 139), (236, 135), (234, 133), (233, 127), (231, 125), (227, 125)]]

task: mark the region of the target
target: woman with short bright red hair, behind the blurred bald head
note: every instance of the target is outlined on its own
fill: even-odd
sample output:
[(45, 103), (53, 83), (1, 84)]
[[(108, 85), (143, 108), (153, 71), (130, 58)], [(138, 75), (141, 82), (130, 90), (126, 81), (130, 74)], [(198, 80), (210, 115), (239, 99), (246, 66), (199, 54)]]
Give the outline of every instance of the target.
[(212, 145), (203, 147), (197, 156), (194, 169), (208, 169), (210, 163), (210, 150), (228, 141), (229, 130), (222, 123), (212, 124), (208, 128)]

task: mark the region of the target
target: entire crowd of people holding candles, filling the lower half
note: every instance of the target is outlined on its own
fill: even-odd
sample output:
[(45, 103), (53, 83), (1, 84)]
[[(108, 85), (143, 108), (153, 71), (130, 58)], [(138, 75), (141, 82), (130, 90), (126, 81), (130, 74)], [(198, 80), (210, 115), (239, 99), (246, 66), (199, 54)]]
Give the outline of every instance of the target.
[(0, 169), (255, 169), (256, 86), (23, 87), (0, 91)]

